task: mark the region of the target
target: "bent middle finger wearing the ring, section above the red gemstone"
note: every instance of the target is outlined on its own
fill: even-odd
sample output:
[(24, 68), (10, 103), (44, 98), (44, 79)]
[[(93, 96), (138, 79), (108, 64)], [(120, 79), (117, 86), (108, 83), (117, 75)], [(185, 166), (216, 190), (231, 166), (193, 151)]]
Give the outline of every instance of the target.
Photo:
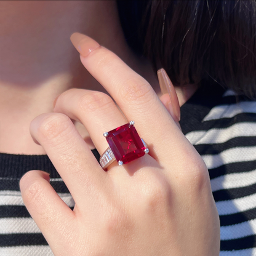
[(128, 122), (110, 96), (94, 90), (66, 90), (55, 102), (54, 112), (84, 124), (100, 155), (108, 148), (103, 133)]

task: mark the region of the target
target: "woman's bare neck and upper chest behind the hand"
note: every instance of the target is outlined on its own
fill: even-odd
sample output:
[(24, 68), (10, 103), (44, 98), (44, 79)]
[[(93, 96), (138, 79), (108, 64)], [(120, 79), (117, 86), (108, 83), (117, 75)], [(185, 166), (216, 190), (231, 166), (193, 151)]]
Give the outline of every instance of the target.
[(148, 62), (126, 44), (116, 1), (0, 1), (0, 152), (45, 154), (31, 138), (33, 118), (72, 87), (106, 92), (80, 63), (69, 39), (75, 31), (119, 55), (159, 92)]

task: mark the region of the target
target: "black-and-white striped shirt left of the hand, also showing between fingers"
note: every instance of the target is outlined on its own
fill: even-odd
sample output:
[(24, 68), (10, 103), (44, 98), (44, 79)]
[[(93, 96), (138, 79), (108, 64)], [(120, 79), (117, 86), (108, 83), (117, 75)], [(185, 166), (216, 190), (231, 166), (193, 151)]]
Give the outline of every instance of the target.
[[(30, 217), (18, 188), (19, 179), (2, 178), (0, 188), (8, 184), (9, 190), (0, 190), (0, 255), (1, 256), (53, 256), (46, 239)], [(61, 178), (51, 178), (51, 185), (71, 208), (74, 201)]]

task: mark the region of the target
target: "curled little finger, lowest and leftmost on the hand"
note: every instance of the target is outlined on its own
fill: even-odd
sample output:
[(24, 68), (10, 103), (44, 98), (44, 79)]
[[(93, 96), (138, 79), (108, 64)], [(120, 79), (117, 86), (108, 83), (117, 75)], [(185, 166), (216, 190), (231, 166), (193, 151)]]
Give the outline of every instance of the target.
[(28, 212), (50, 247), (61, 244), (65, 236), (63, 230), (74, 225), (74, 213), (50, 185), (49, 175), (41, 170), (27, 172), (20, 180), (20, 191)]

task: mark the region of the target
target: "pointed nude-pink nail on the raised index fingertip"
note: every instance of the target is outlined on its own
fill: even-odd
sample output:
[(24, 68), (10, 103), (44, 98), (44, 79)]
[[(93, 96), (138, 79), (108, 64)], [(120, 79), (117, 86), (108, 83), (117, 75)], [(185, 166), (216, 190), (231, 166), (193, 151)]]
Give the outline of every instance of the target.
[(94, 39), (89, 38), (89, 36), (86, 36), (85, 34), (81, 33), (73, 33), (70, 37), (70, 40), (73, 44), (73, 46), (78, 50), (79, 54), (86, 57), (90, 54), (93, 50), (100, 47), (100, 44), (98, 42), (94, 41)]

